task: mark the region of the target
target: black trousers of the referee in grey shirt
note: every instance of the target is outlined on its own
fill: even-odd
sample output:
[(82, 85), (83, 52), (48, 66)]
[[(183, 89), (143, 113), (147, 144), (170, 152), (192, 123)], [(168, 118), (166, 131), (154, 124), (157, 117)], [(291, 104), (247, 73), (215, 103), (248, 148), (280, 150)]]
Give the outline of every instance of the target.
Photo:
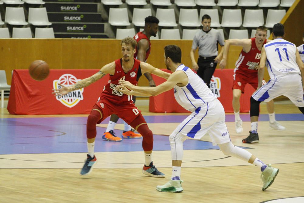
[(210, 80), (217, 65), (217, 63), (214, 63), (214, 59), (216, 58), (216, 56), (205, 58), (206, 59), (201, 56), (199, 57), (197, 61), (197, 65), (199, 66), (197, 74), (204, 80), (206, 85), (210, 88)]

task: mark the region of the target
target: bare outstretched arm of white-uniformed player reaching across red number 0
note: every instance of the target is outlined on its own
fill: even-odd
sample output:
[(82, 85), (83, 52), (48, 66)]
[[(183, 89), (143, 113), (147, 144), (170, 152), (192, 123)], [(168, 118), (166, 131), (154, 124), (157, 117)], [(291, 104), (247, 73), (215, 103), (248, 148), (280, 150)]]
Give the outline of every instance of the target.
[[(125, 93), (125, 94), (137, 94), (137, 93), (144, 93), (148, 96), (156, 96), (168, 90), (171, 90), (174, 85), (181, 83), (187, 84), (188, 77), (183, 71), (177, 71), (171, 74), (168, 80), (156, 87), (139, 87), (134, 86), (130, 82), (125, 80), (119, 81), (119, 86), (116, 87), (117, 90)], [(126, 90), (129, 89), (129, 90)], [(131, 91), (130, 91), (131, 90)]]

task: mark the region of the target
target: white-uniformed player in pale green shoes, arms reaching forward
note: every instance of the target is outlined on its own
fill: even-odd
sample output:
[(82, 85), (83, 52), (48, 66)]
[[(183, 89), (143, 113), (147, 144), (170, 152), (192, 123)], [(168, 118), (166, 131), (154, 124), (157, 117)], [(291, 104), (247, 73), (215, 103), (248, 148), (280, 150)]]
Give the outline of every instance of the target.
[(264, 175), (262, 190), (267, 189), (278, 174), (278, 169), (267, 166), (250, 152), (231, 143), (225, 124), (225, 111), (204, 81), (190, 68), (181, 64), (181, 49), (175, 45), (164, 48), (164, 60), (167, 69), (173, 73), (168, 80), (156, 87), (134, 86), (128, 81), (120, 80), (117, 90), (128, 95), (155, 96), (174, 88), (177, 102), (192, 113), (178, 125), (169, 136), (172, 155), (172, 176), (168, 183), (158, 185), (161, 192), (181, 192), (181, 163), (183, 158), (183, 141), (187, 138), (200, 139), (207, 132), (213, 145), (226, 156), (234, 156), (259, 167)]

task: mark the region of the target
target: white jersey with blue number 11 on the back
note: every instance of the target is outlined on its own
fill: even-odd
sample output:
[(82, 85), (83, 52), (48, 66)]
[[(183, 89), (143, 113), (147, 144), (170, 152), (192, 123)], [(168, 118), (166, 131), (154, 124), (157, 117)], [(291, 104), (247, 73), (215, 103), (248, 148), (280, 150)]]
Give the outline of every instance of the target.
[(285, 76), (290, 73), (301, 74), (299, 66), (295, 62), (296, 46), (278, 38), (264, 44), (267, 56), (267, 69), (271, 79)]

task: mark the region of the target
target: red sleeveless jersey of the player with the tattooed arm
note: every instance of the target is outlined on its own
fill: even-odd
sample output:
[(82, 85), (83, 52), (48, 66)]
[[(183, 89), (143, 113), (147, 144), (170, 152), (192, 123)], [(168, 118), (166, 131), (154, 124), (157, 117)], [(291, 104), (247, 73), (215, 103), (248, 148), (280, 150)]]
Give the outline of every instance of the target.
[(114, 75), (110, 75), (109, 83), (105, 85), (100, 97), (113, 103), (133, 103), (132, 96), (119, 92), (115, 87), (118, 85), (118, 81), (120, 79), (124, 79), (133, 85), (137, 85), (140, 76), (140, 60), (134, 59), (133, 68), (128, 73), (125, 73), (122, 67), (122, 59), (116, 59), (115, 73)]

